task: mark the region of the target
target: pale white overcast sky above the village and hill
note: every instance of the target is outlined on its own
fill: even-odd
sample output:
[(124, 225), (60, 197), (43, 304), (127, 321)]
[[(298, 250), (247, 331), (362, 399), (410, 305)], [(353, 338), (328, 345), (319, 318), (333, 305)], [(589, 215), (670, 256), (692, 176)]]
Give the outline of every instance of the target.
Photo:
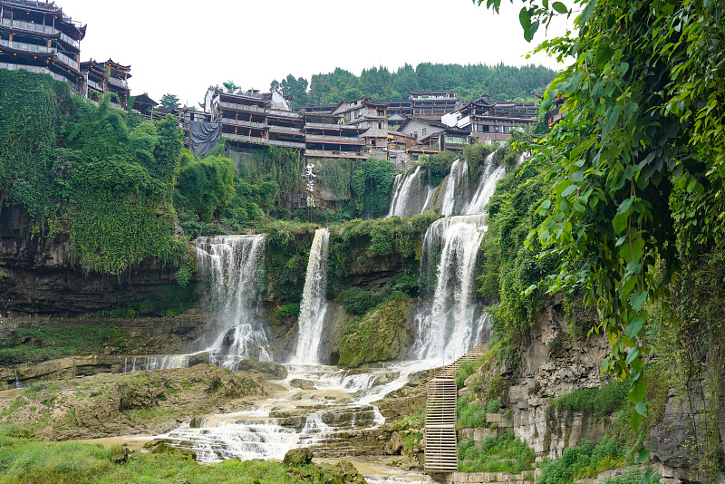
[[(471, 0), (55, 0), (88, 25), (81, 60), (131, 64), (131, 92), (201, 102), (209, 85), (232, 80), (269, 90), (287, 74), (309, 80), (341, 67), (355, 74), (404, 63), (539, 63), (520, 4), (494, 15)], [(561, 27), (563, 28), (563, 27)], [(550, 31), (549, 34), (552, 34)], [(549, 35), (551, 36), (551, 35)], [(537, 34), (538, 40), (543, 38)]]

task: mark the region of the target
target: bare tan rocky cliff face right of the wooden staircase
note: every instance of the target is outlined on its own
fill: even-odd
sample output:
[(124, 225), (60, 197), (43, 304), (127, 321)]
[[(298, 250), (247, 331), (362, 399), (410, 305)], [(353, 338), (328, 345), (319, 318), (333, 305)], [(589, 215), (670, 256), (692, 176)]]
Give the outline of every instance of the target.
[[(588, 340), (571, 339), (561, 300), (546, 301), (519, 346), (519, 361), (484, 365), (467, 380), (468, 386), (478, 381), (486, 388), (499, 387), (495, 393), (502, 411), (487, 415), (488, 428), (463, 429), (460, 437), (478, 441), (510, 429), (536, 451), (537, 457), (552, 459), (582, 440), (602, 440), (609, 420), (557, 408), (554, 403), (558, 396), (605, 383), (599, 369), (609, 352), (606, 339), (597, 335)], [(459, 392), (467, 393), (469, 401), (481, 399), (483, 406), (487, 405), (481, 393)]]

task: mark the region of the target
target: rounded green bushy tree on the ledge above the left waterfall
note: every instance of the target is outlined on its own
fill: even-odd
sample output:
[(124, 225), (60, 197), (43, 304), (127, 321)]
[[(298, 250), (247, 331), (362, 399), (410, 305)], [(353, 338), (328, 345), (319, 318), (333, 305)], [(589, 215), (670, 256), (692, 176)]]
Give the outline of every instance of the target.
[(179, 172), (177, 206), (208, 222), (238, 193), (234, 185), (234, 165), (226, 158), (194, 158)]

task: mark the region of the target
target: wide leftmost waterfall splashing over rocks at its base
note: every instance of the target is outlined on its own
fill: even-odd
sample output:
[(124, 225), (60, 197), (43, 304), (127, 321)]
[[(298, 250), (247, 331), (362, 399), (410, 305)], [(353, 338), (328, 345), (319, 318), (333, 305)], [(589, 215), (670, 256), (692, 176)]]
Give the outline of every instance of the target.
[(202, 237), (195, 245), (199, 272), (210, 285), (209, 303), (217, 310), (210, 363), (233, 370), (243, 358), (272, 361), (259, 286), (265, 236)]

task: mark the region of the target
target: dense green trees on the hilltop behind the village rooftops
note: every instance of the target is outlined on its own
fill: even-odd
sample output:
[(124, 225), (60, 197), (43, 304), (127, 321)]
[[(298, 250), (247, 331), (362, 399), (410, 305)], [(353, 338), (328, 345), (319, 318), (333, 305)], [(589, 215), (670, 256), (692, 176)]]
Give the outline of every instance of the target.
[[(534, 101), (533, 92), (542, 92), (553, 78), (553, 71), (534, 65), (420, 63), (413, 67), (406, 63), (395, 72), (385, 67), (372, 67), (363, 69), (360, 76), (356, 76), (338, 67), (332, 73), (315, 74), (310, 80), (310, 92), (299, 98), (296, 92), (301, 92), (303, 86), (306, 89), (307, 82), (303, 78), (295, 80), (290, 74), (285, 80), (290, 87), (282, 92), (294, 93), (297, 104), (335, 104), (362, 96), (401, 99), (408, 98), (411, 91), (431, 90), (453, 90), (465, 101), (483, 94), (497, 100)], [(272, 90), (284, 85), (285, 81), (273, 82)]]

